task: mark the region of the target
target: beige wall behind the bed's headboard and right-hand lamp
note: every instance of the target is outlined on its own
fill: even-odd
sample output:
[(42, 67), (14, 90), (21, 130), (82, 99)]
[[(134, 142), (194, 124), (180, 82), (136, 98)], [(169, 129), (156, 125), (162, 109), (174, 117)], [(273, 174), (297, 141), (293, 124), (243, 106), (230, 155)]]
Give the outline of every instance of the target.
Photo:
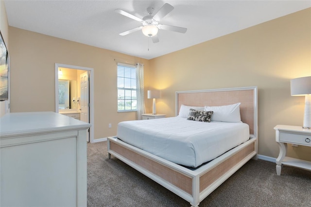
[[(304, 98), (290, 95), (290, 79), (311, 75), (311, 9), (152, 59), (150, 67), (162, 90), (157, 112), (168, 116), (175, 91), (258, 86), (259, 155), (277, 157), (273, 127), (303, 123)], [(311, 160), (308, 147), (289, 146), (289, 155)]]

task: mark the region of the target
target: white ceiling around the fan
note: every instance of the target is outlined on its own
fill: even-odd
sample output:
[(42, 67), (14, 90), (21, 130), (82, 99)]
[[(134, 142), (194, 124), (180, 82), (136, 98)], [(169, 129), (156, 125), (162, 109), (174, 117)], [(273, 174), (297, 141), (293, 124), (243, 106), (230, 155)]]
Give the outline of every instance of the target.
[[(185, 34), (159, 30), (158, 43), (141, 31), (137, 17), (164, 3), (174, 9), (161, 24), (186, 27)], [(311, 0), (5, 0), (9, 26), (116, 52), (152, 59), (311, 7)], [(149, 51), (148, 51), (149, 48)]]

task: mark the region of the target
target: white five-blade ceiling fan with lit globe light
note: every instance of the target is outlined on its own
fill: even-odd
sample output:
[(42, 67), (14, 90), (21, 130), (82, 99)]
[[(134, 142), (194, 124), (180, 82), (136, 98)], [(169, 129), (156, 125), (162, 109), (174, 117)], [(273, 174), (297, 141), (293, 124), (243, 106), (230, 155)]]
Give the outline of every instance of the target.
[(136, 17), (134, 15), (131, 15), (130, 13), (127, 13), (121, 9), (116, 9), (115, 12), (125, 16), (129, 17), (131, 19), (134, 19), (136, 21), (139, 21), (142, 23), (142, 26), (136, 27), (134, 29), (125, 31), (120, 33), (119, 35), (128, 35), (131, 33), (134, 33), (136, 31), (142, 30), (142, 33), (146, 36), (149, 36), (152, 38), (153, 43), (159, 42), (159, 38), (157, 37), (157, 32), (158, 30), (168, 30), (168, 31), (173, 31), (173, 32), (178, 32), (178, 33), (186, 33), (187, 28), (183, 27), (176, 27), (176, 26), (171, 26), (171, 25), (164, 25), (164, 24), (159, 24), (159, 21), (168, 15), (174, 7), (171, 4), (165, 3), (160, 10), (153, 15), (154, 8), (147, 8), (148, 15), (143, 17), (142, 19), (139, 17)]

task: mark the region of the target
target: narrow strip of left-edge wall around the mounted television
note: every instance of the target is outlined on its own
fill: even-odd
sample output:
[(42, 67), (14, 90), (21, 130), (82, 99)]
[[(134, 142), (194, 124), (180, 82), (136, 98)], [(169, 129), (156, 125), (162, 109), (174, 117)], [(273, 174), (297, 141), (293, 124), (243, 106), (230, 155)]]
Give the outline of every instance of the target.
[[(5, 46), (7, 47), (9, 51), (9, 25), (8, 25), (8, 18), (6, 16), (6, 10), (5, 10), (5, 5), (4, 5), (3, 0), (0, 0), (0, 31), (1, 31), (1, 35), (3, 37)], [(0, 102), (0, 117), (8, 112), (10, 112), (9, 101)]]

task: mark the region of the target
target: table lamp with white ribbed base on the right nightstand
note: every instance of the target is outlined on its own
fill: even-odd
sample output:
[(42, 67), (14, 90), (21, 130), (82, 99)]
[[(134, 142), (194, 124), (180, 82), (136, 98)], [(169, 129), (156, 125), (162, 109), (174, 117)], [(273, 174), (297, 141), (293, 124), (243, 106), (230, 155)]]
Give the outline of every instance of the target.
[(311, 129), (311, 76), (292, 79), (291, 95), (305, 96), (305, 113), (302, 128)]

